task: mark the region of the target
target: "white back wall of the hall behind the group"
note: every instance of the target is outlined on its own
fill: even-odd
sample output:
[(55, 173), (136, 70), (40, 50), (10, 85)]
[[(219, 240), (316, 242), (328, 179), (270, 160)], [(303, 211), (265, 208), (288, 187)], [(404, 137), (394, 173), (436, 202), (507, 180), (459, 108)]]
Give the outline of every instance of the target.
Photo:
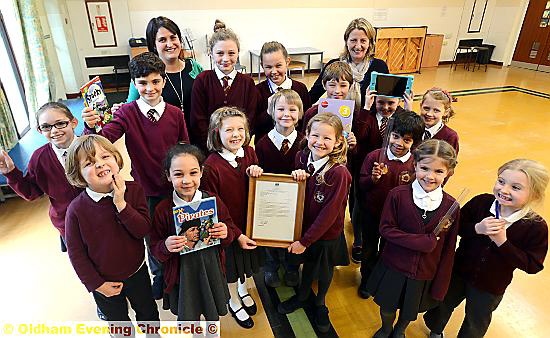
[[(79, 84), (88, 78), (88, 74), (98, 73), (97, 69), (86, 69), (85, 57), (128, 54), (128, 38), (144, 37), (147, 22), (159, 15), (171, 18), (182, 30), (192, 30), (196, 39), (194, 45), (197, 58), (205, 68), (210, 65), (205, 36), (212, 34), (216, 18), (225, 21), (239, 35), (241, 63), (248, 68), (248, 51), (259, 49), (264, 42), (271, 40), (280, 41), (286, 47), (316, 47), (325, 51), (325, 58), (336, 57), (343, 48), (343, 32), (347, 24), (357, 17), (365, 17), (378, 27), (425, 25), (428, 26), (428, 33), (444, 34), (440, 61), (452, 60), (458, 40), (483, 38), (484, 43), (497, 46), (493, 60), (507, 65), (513, 54), (528, 2), (489, 0), (482, 31), (472, 34), (467, 31), (473, 0), (350, 0), (348, 6), (355, 7), (347, 8), (331, 7), (334, 3), (322, 0), (300, 4), (289, 2), (284, 4), (287, 6), (285, 8), (268, 8), (271, 4), (245, 1), (236, 4), (239, 8), (234, 9), (221, 8), (226, 5), (222, 5), (220, 1), (156, 4), (150, 0), (111, 0), (118, 47), (94, 48), (84, 1), (58, 1), (65, 1), (68, 17), (73, 23), (72, 33), (78, 55), (78, 62), (73, 60), (73, 67), (75, 72), (81, 74), (81, 81), (75, 76)], [(317, 4), (323, 7), (315, 7)], [(304, 7), (290, 8), (297, 5)], [(312, 68), (321, 67), (317, 57), (312, 57), (311, 61)], [(253, 68), (257, 69), (256, 62)], [(111, 73), (112, 69), (106, 67), (102, 71)]]

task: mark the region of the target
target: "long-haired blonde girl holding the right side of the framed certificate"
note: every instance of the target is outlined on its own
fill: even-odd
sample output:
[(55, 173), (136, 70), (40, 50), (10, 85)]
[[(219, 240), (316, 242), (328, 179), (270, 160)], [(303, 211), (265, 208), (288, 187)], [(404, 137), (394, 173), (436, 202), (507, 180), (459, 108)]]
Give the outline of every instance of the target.
[[(349, 264), (344, 237), (344, 214), (351, 184), (346, 168), (347, 142), (340, 119), (330, 113), (315, 115), (306, 129), (307, 149), (297, 155), (297, 170), (292, 175), (305, 180), (306, 197), (302, 237), (288, 247), (295, 264), (303, 263), (298, 294), (278, 306), (287, 314), (305, 305), (311, 285), (318, 276), (314, 323), (320, 332), (330, 329), (325, 298), (335, 266)], [(308, 176), (309, 175), (309, 176)]]

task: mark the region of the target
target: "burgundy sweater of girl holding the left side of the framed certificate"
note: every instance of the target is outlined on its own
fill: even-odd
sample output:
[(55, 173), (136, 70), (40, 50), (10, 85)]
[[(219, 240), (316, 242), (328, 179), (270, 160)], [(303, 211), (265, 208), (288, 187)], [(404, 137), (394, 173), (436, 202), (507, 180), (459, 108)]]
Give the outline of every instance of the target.
[(200, 189), (211, 191), (224, 201), (233, 222), (242, 233), (246, 233), (248, 208), (246, 168), (252, 164), (258, 164), (258, 158), (250, 146), (244, 147), (244, 157), (237, 168), (233, 168), (219, 153), (211, 153), (204, 162), (201, 179)]

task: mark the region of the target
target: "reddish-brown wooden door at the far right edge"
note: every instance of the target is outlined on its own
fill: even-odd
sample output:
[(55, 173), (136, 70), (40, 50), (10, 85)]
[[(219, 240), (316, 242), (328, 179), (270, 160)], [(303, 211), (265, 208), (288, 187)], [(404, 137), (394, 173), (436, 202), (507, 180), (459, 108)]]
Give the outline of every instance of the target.
[(550, 65), (550, 0), (531, 0), (523, 19), (513, 61), (527, 68)]

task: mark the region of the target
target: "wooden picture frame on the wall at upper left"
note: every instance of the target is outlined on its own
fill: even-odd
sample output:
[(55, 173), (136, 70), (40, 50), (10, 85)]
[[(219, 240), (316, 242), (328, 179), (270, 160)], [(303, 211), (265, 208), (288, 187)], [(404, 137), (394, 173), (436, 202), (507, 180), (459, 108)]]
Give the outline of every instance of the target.
[(116, 47), (115, 25), (109, 0), (85, 0), (94, 48)]

